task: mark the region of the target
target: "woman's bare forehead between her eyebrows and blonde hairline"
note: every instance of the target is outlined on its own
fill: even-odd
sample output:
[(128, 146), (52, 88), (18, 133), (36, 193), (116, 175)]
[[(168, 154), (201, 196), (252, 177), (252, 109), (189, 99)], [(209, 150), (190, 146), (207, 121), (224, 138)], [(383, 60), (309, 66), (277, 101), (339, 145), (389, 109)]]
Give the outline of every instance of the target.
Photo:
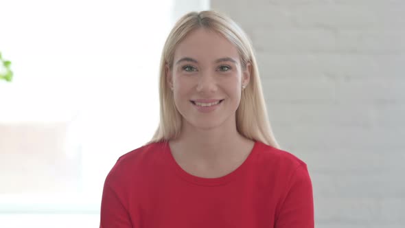
[(187, 34), (174, 51), (174, 62), (180, 58), (195, 58), (198, 62), (229, 57), (239, 62), (238, 49), (221, 34), (200, 28)]

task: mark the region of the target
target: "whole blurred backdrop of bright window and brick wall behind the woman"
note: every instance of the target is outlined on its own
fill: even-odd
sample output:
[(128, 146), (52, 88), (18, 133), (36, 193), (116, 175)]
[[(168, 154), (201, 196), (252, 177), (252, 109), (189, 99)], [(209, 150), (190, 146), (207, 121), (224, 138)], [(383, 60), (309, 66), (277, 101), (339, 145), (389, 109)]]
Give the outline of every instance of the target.
[(253, 42), (316, 227), (405, 227), (402, 0), (0, 0), (0, 227), (98, 226), (106, 174), (157, 127), (168, 32), (210, 8)]

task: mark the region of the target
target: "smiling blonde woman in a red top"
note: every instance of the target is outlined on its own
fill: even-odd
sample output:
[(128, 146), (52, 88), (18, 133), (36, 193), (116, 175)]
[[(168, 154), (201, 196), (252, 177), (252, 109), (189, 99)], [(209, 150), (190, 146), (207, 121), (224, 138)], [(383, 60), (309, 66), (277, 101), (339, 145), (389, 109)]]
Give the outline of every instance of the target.
[(279, 149), (238, 25), (186, 14), (160, 74), (160, 126), (106, 177), (101, 227), (314, 227), (308, 170)]

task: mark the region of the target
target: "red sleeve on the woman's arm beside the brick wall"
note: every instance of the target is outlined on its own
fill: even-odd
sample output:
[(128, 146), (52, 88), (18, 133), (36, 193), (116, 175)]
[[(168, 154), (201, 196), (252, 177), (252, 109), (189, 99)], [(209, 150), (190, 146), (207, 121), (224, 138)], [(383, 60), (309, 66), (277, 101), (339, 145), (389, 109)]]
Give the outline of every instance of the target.
[(314, 228), (314, 198), (307, 166), (292, 174), (286, 197), (276, 215), (275, 228)]

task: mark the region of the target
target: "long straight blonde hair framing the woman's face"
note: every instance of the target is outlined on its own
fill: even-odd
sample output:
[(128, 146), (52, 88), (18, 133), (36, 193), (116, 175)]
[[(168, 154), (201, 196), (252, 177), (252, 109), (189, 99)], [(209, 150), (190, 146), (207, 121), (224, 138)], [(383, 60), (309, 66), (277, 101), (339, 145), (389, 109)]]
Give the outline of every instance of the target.
[(248, 139), (262, 141), (264, 144), (279, 148), (268, 121), (266, 102), (251, 41), (234, 21), (213, 10), (185, 14), (176, 22), (167, 37), (160, 64), (160, 123), (149, 143), (176, 139), (181, 132), (182, 117), (174, 105), (173, 93), (166, 80), (165, 66), (172, 69), (176, 46), (187, 34), (198, 28), (218, 32), (233, 43), (240, 54), (242, 67), (246, 67), (248, 62), (251, 63), (250, 82), (242, 92), (240, 105), (236, 111), (238, 132)]

